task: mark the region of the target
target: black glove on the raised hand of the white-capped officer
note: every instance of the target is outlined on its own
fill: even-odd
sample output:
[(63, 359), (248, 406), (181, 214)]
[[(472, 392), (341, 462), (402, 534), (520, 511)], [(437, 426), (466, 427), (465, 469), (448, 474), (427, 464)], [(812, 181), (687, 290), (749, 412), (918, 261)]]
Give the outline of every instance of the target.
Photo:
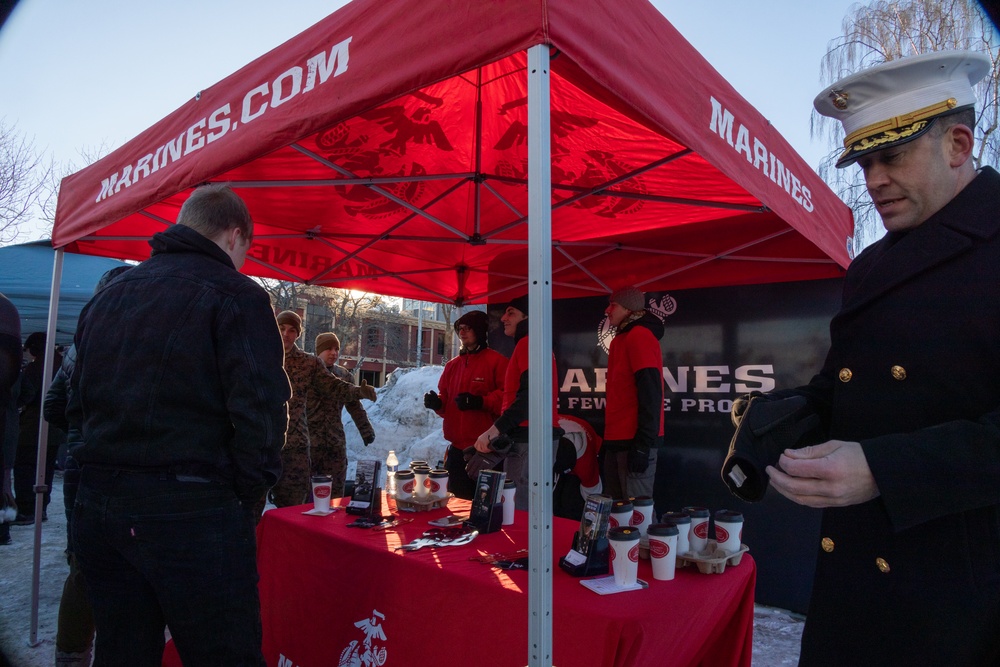
[(820, 418), (804, 396), (771, 398), (753, 392), (733, 402), (736, 432), (722, 464), (722, 481), (733, 495), (749, 502), (764, 498), (765, 468), (777, 465), (786, 449), (820, 440)]

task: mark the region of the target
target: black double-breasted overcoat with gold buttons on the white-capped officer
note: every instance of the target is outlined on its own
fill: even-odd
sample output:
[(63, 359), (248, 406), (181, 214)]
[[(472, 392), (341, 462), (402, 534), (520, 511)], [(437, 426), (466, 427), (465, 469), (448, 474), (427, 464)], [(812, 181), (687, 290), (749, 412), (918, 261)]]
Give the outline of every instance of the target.
[(823, 513), (802, 665), (1000, 663), (1000, 175), (850, 266), (799, 388), (875, 500)]

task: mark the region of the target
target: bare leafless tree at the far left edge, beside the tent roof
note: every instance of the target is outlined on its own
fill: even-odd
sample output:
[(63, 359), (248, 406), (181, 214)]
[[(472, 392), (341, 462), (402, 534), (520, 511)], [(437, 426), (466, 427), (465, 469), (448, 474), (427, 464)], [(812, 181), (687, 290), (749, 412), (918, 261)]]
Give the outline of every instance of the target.
[(54, 171), (51, 157), (0, 119), (0, 244), (16, 241), (21, 227), (51, 205)]

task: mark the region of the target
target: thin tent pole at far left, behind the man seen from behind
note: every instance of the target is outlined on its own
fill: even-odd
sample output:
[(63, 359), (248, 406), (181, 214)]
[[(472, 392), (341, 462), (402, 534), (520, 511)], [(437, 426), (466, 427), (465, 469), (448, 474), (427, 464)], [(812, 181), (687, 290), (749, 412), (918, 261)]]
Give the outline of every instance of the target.
[[(56, 321), (59, 315), (59, 285), (62, 283), (62, 248), (57, 248), (55, 259), (52, 263), (52, 291), (49, 296), (49, 321), (46, 325), (45, 337), (45, 363), (42, 366), (42, 389), (41, 400), (45, 401), (45, 394), (52, 383), (53, 364), (55, 363), (56, 352)], [(42, 512), (45, 507), (45, 493), (49, 490), (45, 485), (45, 461), (48, 454), (49, 444), (49, 423), (44, 418), (38, 420), (38, 458), (35, 467), (35, 546), (34, 556), (31, 562), (31, 635), (28, 638), (29, 646), (38, 646), (38, 584), (41, 571), (42, 559)]]

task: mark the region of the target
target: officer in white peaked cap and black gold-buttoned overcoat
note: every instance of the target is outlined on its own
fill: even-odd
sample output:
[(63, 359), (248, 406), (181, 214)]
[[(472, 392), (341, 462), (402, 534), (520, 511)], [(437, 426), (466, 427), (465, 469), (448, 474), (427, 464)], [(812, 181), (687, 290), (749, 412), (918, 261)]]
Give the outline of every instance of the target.
[(770, 396), (826, 431), (767, 468), (825, 508), (800, 665), (1000, 664), (1000, 175), (972, 161), (989, 68), (928, 53), (816, 98), (888, 233), (847, 271), (819, 374)]

